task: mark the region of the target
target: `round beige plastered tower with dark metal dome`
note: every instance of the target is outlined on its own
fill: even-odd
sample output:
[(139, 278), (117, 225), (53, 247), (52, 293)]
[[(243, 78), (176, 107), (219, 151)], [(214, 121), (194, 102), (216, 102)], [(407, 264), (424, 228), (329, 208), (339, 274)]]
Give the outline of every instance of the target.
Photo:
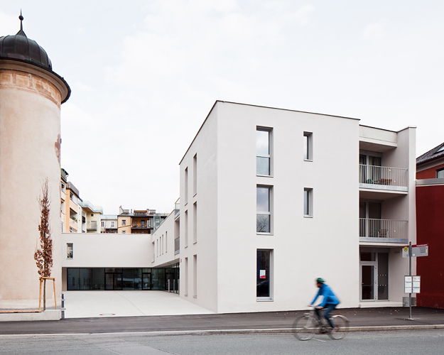
[[(0, 308), (38, 307), (33, 255), (45, 179), (51, 200), (52, 276), (61, 296), (60, 105), (69, 97), (67, 82), (22, 26), (16, 35), (0, 37)], [(51, 305), (49, 287), (47, 297)]]

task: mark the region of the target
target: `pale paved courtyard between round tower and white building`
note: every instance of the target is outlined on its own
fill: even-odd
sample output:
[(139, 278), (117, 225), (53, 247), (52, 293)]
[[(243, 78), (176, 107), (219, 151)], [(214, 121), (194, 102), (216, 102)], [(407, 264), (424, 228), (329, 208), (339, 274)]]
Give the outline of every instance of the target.
[(65, 318), (214, 313), (165, 291), (65, 291), (64, 295)]

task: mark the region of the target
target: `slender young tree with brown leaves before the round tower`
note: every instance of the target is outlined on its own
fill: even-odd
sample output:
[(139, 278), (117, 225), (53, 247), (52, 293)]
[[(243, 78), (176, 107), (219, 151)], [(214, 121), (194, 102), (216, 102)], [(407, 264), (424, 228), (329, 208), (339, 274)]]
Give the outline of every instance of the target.
[(43, 310), (46, 310), (46, 279), (51, 275), (51, 268), (53, 267), (53, 239), (51, 238), (50, 229), (50, 190), (48, 187), (48, 178), (42, 183), (42, 195), (38, 198), (40, 204), (40, 224), (38, 224), (38, 231), (40, 231), (40, 249), (34, 253), (34, 260), (36, 260), (38, 275), (43, 277)]

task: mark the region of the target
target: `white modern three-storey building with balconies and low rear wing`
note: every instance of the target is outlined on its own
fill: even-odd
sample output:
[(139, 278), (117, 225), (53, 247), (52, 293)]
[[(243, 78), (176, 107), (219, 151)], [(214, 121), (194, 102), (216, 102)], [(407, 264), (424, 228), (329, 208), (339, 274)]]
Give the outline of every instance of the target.
[[(153, 234), (131, 236), (143, 255), (126, 235), (112, 241), (119, 258), (94, 265), (140, 268), (134, 283), (163, 268), (163, 288), (219, 313), (303, 309), (318, 277), (340, 307), (400, 306), (401, 249), (416, 242), (415, 134), (218, 101), (180, 161), (175, 209)], [(92, 267), (91, 238), (68, 272)], [(133, 263), (121, 258), (132, 251)]]

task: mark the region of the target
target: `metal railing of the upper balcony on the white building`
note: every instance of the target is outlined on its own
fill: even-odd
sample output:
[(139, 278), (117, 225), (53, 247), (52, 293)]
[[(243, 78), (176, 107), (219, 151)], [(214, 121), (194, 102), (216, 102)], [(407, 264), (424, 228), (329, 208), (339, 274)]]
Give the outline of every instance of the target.
[(408, 169), (359, 164), (359, 183), (407, 187)]

